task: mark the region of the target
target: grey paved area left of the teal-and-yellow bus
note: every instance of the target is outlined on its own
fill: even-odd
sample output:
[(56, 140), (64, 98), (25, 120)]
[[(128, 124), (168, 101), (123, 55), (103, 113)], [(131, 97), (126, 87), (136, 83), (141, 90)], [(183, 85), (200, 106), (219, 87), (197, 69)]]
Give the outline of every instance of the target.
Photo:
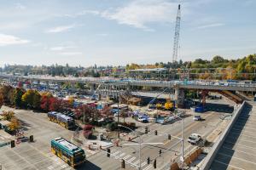
[(22, 122), (25, 135), (34, 136), (34, 142), (16, 144), (15, 148), (10, 148), (10, 145), (1, 147), (0, 163), (3, 169), (73, 169), (50, 152), (50, 139), (59, 136), (70, 139), (72, 131), (49, 122), (44, 113), (19, 110), (15, 111), (15, 116)]

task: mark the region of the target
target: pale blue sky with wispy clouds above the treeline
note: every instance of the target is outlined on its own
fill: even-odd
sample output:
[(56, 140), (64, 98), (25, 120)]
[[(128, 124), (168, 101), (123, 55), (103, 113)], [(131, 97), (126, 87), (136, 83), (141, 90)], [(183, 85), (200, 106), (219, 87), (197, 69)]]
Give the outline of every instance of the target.
[(0, 66), (126, 65), (256, 53), (256, 0), (0, 0)]

